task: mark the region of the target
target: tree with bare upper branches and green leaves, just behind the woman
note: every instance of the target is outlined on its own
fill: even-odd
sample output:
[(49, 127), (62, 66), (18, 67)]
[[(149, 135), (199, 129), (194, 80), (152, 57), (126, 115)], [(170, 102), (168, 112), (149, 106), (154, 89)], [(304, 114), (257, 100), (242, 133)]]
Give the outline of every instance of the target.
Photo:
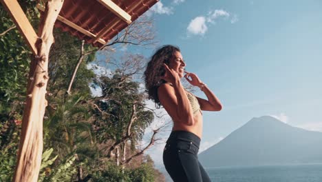
[[(116, 163), (120, 165), (143, 154), (155, 141), (153, 135), (145, 149), (136, 149), (144, 130), (154, 119), (153, 110), (144, 103), (147, 97), (138, 79), (142, 75), (144, 63), (145, 59), (141, 55), (129, 54), (121, 61), (109, 62), (111, 68), (114, 68), (112, 76), (103, 75), (94, 81), (94, 85), (102, 90), (102, 96), (96, 97), (92, 103), (94, 132), (99, 143), (106, 143), (107, 156), (115, 156)], [(155, 134), (157, 132), (155, 130)], [(130, 151), (127, 150), (128, 146)]]

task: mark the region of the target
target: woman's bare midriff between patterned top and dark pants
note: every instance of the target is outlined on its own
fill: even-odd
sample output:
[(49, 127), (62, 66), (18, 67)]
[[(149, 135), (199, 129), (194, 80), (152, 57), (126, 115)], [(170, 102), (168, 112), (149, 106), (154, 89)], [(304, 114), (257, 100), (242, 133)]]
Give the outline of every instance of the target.
[(173, 121), (173, 128), (172, 130), (183, 130), (187, 132), (192, 132), (193, 134), (199, 136), (199, 138), (202, 138), (202, 112), (199, 110), (195, 113), (193, 116), (193, 120), (195, 123), (193, 125), (186, 125), (183, 122), (180, 121)]

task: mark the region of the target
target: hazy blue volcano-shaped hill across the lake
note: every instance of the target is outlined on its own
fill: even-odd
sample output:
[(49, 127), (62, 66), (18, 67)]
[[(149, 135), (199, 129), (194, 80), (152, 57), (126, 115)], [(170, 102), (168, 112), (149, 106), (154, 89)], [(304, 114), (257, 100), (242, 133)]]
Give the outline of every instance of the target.
[(253, 118), (198, 157), (206, 168), (322, 163), (322, 132), (292, 127), (274, 117)]

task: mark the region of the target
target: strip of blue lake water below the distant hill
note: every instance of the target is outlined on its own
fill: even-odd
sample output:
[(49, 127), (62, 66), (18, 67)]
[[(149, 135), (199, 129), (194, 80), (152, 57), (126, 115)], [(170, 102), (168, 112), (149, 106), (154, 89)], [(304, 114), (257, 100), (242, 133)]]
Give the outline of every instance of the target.
[(322, 182), (322, 164), (208, 168), (213, 182)]

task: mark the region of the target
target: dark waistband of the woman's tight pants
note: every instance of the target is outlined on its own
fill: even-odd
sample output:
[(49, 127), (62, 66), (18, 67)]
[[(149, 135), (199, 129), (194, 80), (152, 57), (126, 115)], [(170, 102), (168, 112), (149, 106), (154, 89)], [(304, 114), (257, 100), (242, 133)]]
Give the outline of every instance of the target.
[(175, 140), (183, 140), (183, 141), (191, 141), (193, 144), (197, 145), (197, 147), (200, 147), (200, 141), (201, 139), (199, 136), (193, 134), (192, 132), (182, 131), (182, 130), (175, 130), (172, 131), (169, 139), (167, 140), (167, 143), (171, 143)]

